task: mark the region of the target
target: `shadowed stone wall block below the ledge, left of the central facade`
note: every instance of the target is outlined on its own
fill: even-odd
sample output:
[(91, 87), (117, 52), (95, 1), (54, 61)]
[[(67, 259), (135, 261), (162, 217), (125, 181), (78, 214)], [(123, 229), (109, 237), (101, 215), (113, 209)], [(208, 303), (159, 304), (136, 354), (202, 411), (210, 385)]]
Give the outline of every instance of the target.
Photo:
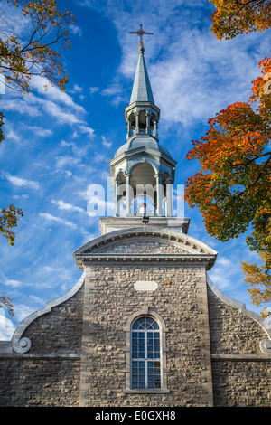
[(79, 406), (79, 371), (79, 359), (0, 356), (0, 406)]

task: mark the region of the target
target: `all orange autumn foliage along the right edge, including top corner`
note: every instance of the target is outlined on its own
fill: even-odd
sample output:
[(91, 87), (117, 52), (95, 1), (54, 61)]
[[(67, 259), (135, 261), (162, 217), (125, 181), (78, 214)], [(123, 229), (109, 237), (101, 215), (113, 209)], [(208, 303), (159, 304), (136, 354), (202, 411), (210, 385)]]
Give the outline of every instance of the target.
[[(270, 1), (210, 2), (217, 7), (212, 32), (220, 40), (270, 27)], [(188, 179), (185, 192), (189, 205), (200, 209), (208, 233), (220, 241), (252, 228), (247, 244), (261, 265), (241, 264), (257, 307), (271, 301), (271, 58), (259, 61), (259, 68), (248, 102), (220, 110), (209, 119), (205, 136), (192, 141), (187, 158), (198, 160), (201, 169)]]

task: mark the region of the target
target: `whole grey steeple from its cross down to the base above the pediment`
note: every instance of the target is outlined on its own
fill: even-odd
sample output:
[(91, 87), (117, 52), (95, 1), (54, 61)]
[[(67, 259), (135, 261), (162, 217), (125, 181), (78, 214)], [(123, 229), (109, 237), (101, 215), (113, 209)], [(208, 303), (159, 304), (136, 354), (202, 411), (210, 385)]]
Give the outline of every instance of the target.
[[(140, 35), (139, 56), (129, 105), (125, 109), (126, 143), (110, 161), (114, 186), (115, 217), (101, 218), (101, 231), (152, 224), (184, 233), (189, 219), (174, 217), (173, 184), (176, 161), (158, 138), (160, 109), (145, 65), (145, 48)], [(178, 200), (181, 202), (181, 200)], [(178, 229), (177, 229), (178, 228)]]

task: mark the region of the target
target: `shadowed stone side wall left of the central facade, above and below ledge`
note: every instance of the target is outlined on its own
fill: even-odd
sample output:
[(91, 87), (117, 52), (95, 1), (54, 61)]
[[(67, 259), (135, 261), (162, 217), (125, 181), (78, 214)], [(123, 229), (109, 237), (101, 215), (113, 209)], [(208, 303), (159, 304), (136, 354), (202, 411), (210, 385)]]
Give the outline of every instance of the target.
[(38, 317), (27, 354), (0, 354), (0, 406), (79, 406), (84, 288)]

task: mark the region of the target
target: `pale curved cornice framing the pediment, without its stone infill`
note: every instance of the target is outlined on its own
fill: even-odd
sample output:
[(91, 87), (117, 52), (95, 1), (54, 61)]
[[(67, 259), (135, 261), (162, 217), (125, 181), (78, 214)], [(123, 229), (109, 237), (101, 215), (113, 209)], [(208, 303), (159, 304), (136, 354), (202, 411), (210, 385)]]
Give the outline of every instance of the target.
[[(126, 254), (108, 253), (107, 247), (129, 243), (130, 241), (158, 241), (168, 245), (174, 245), (184, 250), (185, 253), (164, 254)], [(217, 252), (205, 243), (198, 241), (180, 231), (171, 231), (157, 227), (137, 227), (121, 231), (111, 231), (98, 238), (89, 241), (73, 253), (79, 269), (83, 269), (86, 262), (100, 264), (110, 262), (110, 265), (145, 264), (157, 266), (158, 263), (183, 267), (190, 264), (191, 267), (199, 266), (211, 269), (217, 257)]]

